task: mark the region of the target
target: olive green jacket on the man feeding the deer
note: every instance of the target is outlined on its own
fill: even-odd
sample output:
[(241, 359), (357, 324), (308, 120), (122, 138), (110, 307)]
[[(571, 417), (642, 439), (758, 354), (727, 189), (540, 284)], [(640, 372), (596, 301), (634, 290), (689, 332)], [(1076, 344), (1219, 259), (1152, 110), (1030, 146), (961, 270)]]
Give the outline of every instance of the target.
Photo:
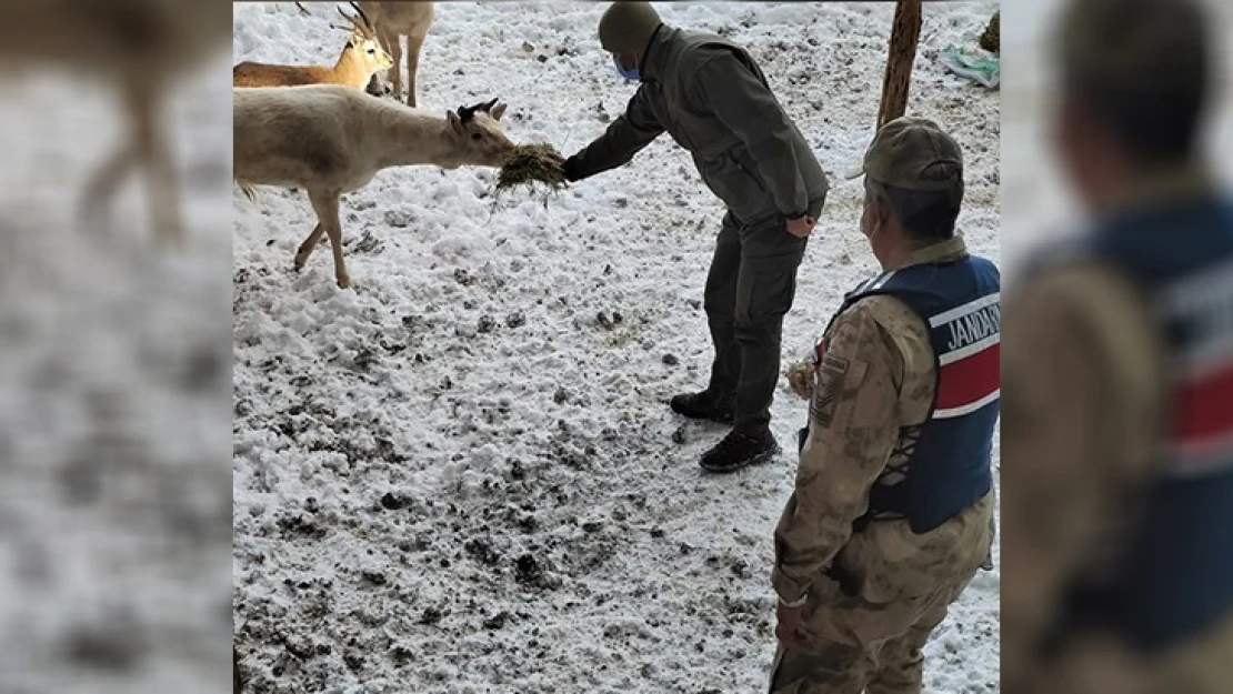
[(661, 25), (640, 68), (625, 115), (572, 158), (572, 178), (621, 166), (667, 131), (739, 219), (801, 217), (826, 192), (821, 164), (743, 48)]

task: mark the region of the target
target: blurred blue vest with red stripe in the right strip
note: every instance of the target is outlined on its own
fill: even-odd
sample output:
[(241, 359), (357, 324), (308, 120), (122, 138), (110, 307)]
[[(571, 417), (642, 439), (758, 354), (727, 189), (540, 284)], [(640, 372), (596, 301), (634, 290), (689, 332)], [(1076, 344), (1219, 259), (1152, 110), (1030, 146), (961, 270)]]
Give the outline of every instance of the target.
[(1153, 652), (1233, 616), (1233, 201), (1122, 214), (1063, 248), (1042, 265), (1095, 260), (1142, 293), (1170, 407), (1154, 478), (1127, 500), (1138, 513), (1121, 566), (1071, 581), (1058, 627), (1112, 630)]

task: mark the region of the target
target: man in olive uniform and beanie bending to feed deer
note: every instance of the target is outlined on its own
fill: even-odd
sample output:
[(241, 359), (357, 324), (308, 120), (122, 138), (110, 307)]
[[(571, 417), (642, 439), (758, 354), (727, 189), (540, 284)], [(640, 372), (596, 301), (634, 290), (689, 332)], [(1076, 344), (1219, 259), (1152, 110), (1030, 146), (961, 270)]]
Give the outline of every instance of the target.
[(727, 206), (707, 277), (715, 348), (707, 390), (672, 398), (674, 412), (732, 424), (703, 455), (711, 471), (768, 460), (783, 317), (827, 181), (797, 126), (745, 49), (665, 25), (647, 2), (615, 2), (599, 42), (616, 70), (641, 84), (623, 116), (565, 161), (571, 181), (626, 164), (667, 131), (693, 154)]

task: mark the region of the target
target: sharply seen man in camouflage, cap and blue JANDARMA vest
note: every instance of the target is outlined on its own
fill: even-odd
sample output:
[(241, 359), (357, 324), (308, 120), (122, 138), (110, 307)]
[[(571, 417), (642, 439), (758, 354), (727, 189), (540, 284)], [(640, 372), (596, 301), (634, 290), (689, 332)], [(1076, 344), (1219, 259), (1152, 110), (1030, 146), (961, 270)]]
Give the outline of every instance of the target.
[(925, 646), (990, 556), (997, 267), (956, 234), (959, 144), (904, 117), (875, 134), (861, 231), (883, 272), (815, 349), (795, 491), (776, 529), (771, 692), (916, 694)]

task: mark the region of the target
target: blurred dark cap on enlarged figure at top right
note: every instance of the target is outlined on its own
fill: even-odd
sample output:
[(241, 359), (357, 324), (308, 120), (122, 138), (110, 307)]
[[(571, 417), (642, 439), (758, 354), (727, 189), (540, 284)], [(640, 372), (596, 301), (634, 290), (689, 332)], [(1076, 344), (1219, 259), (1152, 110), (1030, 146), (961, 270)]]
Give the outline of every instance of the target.
[(1063, 81), (1079, 88), (1168, 92), (1210, 63), (1197, 0), (1070, 0), (1054, 32)]

